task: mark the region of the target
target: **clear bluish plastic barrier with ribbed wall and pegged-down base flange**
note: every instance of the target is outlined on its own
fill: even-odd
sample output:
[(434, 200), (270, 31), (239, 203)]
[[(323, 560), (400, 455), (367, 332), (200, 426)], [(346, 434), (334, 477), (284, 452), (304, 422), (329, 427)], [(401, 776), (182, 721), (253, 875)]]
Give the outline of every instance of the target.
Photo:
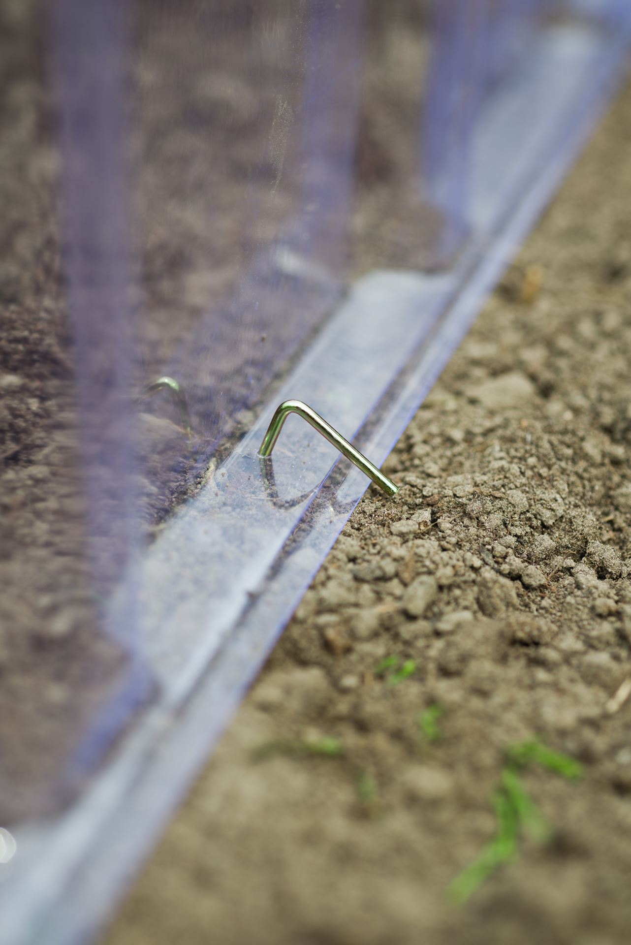
[(297, 418), (261, 462), (275, 407), (304, 400), (384, 460), (622, 74), (631, 11), (0, 16), (0, 937), (69, 945), (367, 488)]

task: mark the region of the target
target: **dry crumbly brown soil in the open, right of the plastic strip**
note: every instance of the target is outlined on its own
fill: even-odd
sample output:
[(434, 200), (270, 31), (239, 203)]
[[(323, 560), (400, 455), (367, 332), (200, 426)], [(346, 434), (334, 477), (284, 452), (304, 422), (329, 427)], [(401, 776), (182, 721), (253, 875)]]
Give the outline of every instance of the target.
[[(111, 945), (629, 940), (631, 700), (609, 700), (631, 676), (630, 92), (388, 460), (398, 495), (350, 518)], [(378, 677), (389, 655), (414, 675)], [(584, 777), (528, 770), (552, 838), (456, 908), (504, 753), (534, 735)], [(340, 757), (257, 755), (324, 736)]]

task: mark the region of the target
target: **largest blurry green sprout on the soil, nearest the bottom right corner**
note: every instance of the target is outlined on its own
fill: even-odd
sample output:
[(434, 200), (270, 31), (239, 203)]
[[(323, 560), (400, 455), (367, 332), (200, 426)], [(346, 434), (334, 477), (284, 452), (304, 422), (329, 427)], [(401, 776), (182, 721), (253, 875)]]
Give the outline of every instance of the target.
[(582, 765), (573, 758), (553, 751), (536, 739), (510, 747), (506, 756), (507, 764), (494, 798), (497, 833), (477, 859), (453, 880), (449, 894), (454, 902), (467, 902), (495, 869), (513, 859), (520, 831), (530, 833), (541, 843), (550, 838), (550, 826), (521, 783), (520, 771), (533, 762), (571, 780), (580, 778), (583, 773)]

